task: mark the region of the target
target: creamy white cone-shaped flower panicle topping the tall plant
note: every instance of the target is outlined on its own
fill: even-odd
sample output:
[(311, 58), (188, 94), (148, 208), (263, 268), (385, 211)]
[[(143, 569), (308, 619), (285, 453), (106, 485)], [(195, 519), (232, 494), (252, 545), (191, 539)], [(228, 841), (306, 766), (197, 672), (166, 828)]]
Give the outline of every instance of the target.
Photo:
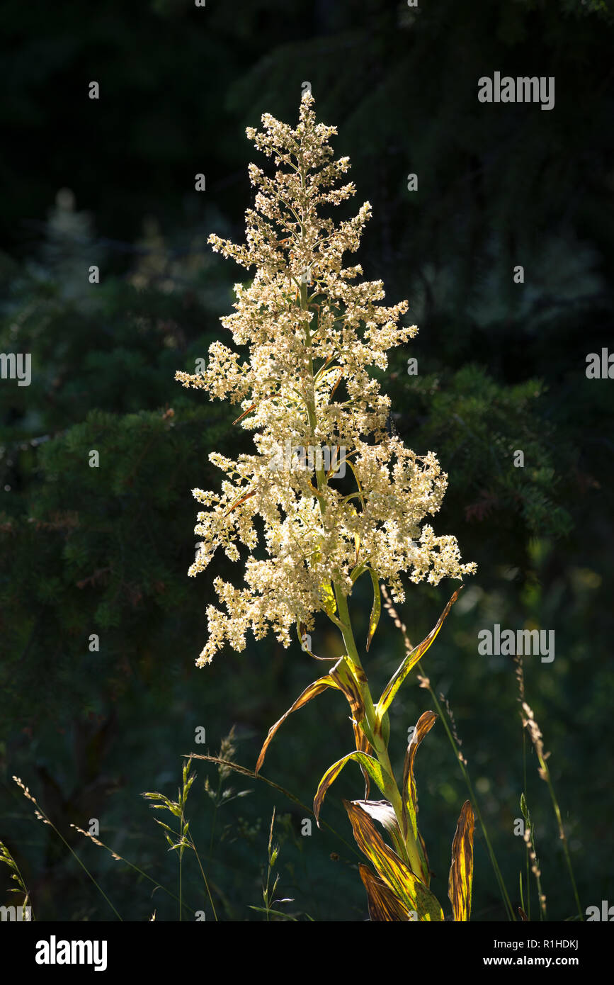
[[(214, 342), (204, 372), (176, 373), (184, 386), (240, 402), (241, 427), (256, 432), (256, 454), (236, 460), (210, 455), (226, 475), (220, 493), (192, 491), (207, 509), (198, 514), (202, 546), (188, 573), (204, 570), (218, 547), (231, 560), (240, 557), (237, 543), (250, 552), (246, 587), (215, 579), (225, 612), (208, 608), (209, 640), (198, 666), (210, 663), (226, 641), (244, 649), (248, 629), (260, 639), (273, 628), (288, 646), (292, 624), (313, 629), (318, 612), (335, 621), (332, 583), (347, 596), (367, 570), (402, 601), (402, 571), (411, 581), (436, 585), (476, 568), (460, 563), (455, 537), (436, 537), (431, 526), (420, 526), (440, 508), (447, 487), (436, 455), (416, 455), (386, 430), (390, 399), (368, 367), (385, 369), (387, 351), (417, 328), (399, 327), (406, 301), (378, 303), (385, 296), (382, 282), (358, 282), (362, 268), (342, 266), (342, 254), (358, 248), (369, 203), (338, 225), (318, 214), (355, 188), (339, 184), (349, 160), (333, 160), (329, 139), (337, 129), (316, 123), (313, 101), (303, 95), (295, 130), (269, 113), (262, 132), (248, 127), (258, 150), (274, 158), (275, 175), (250, 164), (259, 190), (255, 209), (246, 212), (245, 245), (209, 237), (215, 251), (256, 267), (248, 287), (235, 285), (235, 312), (220, 319), (235, 344), (249, 348), (249, 361)], [(303, 448), (344, 449), (354, 492), (338, 492), (317, 460), (316, 474), (272, 467), (288, 439)], [(251, 555), (257, 514), (266, 560)]]

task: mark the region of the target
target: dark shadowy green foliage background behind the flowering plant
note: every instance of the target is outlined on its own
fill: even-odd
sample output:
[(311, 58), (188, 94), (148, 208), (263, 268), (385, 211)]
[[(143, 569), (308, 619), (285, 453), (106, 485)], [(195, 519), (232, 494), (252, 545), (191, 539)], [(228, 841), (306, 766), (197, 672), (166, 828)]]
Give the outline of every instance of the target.
[[(244, 274), (211, 252), (211, 231), (240, 239), (253, 200), (244, 136), (264, 111), (293, 123), (309, 80), (319, 119), (338, 126), (373, 220), (359, 261), (387, 297), (407, 297), (420, 332), (380, 373), (392, 426), (435, 450), (450, 486), (434, 526), (479, 563), (424, 660), (449, 699), (462, 752), (518, 905), (522, 729), (511, 658), (477, 653), (495, 623), (553, 628), (556, 657), (527, 657), (526, 696), (544, 733), (583, 908), (612, 900), (610, 782), (612, 387), (585, 357), (612, 344), (612, 16), (572, 0), (189, 0), (4, 5), (0, 164), (0, 351), (32, 355), (30, 387), (0, 380), (0, 838), (31, 888), (38, 919), (103, 920), (111, 911), (12, 783), (30, 785), (128, 920), (177, 919), (177, 907), (74, 832), (100, 837), (176, 892), (177, 860), (140, 794), (174, 796), (181, 755), (215, 755), (235, 726), (236, 760), (253, 768), (269, 727), (320, 666), (270, 636), (198, 671), (215, 558), (192, 580), (195, 487), (214, 488), (212, 450), (249, 450), (230, 405), (187, 391), (223, 334)], [(485, 105), (477, 79), (555, 76), (552, 111)], [(100, 84), (100, 99), (88, 85)], [(204, 172), (207, 191), (194, 175)], [(406, 190), (416, 172), (417, 192)], [(76, 200), (70, 208), (70, 189)], [(339, 210), (339, 213), (342, 210)], [(100, 266), (101, 283), (88, 284)], [(524, 267), (524, 284), (512, 271)], [(418, 360), (410, 376), (406, 361)], [(172, 412), (172, 413), (171, 413)], [(524, 468), (513, 467), (514, 451)], [(88, 466), (97, 449), (100, 467)], [(364, 581), (364, 579), (363, 579)], [(408, 586), (412, 642), (456, 583)], [(352, 600), (354, 601), (354, 600)], [(366, 635), (369, 585), (352, 607)], [(100, 650), (89, 651), (97, 633)], [(320, 653), (339, 652), (325, 625)], [(383, 615), (366, 659), (374, 693), (402, 658)], [(412, 677), (392, 713), (405, 734), (429, 707)], [(207, 744), (195, 743), (195, 729)], [(264, 773), (311, 804), (325, 769), (350, 751), (342, 699), (325, 693), (292, 716)], [(298, 919), (364, 920), (359, 861), (341, 796), (353, 767), (309, 811), (234, 775), (215, 801), (215, 767), (195, 763), (188, 804), (217, 915), (258, 920), (271, 814), (281, 842), (278, 896)], [(447, 902), (450, 848), (466, 791), (441, 723), (417, 757), (420, 827)], [(209, 777), (210, 790), (205, 789)], [(527, 801), (551, 919), (574, 916), (561, 843), (529, 752)], [(217, 808), (215, 808), (217, 803)], [(215, 821), (214, 821), (215, 819)], [(169, 818), (164, 820), (168, 821)], [(478, 829), (479, 830), (479, 829)], [(333, 854), (332, 854), (333, 853)], [(184, 856), (184, 919), (213, 919), (195, 860)], [(0, 875), (2, 892), (8, 870)], [(14, 897), (15, 898), (15, 897)], [(12, 902), (6, 895), (3, 902)], [(533, 916), (536, 903), (533, 893)], [(445, 909), (448, 911), (448, 907)], [(473, 918), (502, 920), (481, 833)]]

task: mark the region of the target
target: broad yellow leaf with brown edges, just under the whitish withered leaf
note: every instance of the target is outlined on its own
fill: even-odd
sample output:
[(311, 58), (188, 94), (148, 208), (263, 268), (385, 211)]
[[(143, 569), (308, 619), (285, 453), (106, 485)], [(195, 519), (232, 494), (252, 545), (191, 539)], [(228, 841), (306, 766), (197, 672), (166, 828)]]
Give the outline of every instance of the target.
[(387, 845), (360, 804), (343, 801), (360, 851), (373, 864), (379, 878), (420, 921), (443, 921), (444, 911), (424, 883), (411, 872), (394, 849)]

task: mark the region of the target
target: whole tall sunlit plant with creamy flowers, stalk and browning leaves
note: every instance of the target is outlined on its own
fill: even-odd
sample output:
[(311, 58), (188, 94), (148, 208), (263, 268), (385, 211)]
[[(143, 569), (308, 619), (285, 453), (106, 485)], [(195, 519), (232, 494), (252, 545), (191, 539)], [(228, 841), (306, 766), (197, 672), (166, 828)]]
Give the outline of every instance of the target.
[[(197, 664), (209, 664), (226, 642), (244, 649), (248, 630), (261, 639), (272, 629), (287, 647), (292, 627), (303, 649), (315, 656), (311, 634), (316, 616), (321, 613), (337, 626), (344, 655), (289, 709), (334, 688), (343, 692), (352, 712), (355, 748), (323, 777), (314, 813), (318, 818), (345, 763), (356, 761), (367, 791), (364, 800), (345, 807), (354, 837), (375, 867), (375, 873), (361, 867), (372, 919), (441, 920), (441, 906), (428, 888), (413, 779), (417, 747), (436, 716), (426, 712), (419, 719), (399, 787), (388, 754), (388, 709), (458, 593), (432, 632), (405, 657), (377, 702), (354, 638), (348, 600), (357, 580), (368, 574), (374, 600), (368, 650), (380, 616), (381, 582), (402, 602), (401, 574), (407, 573), (412, 582), (426, 579), (437, 585), (443, 578), (473, 573), (476, 565), (461, 563), (454, 536), (436, 536), (424, 522), (440, 508), (447, 488), (437, 456), (432, 451), (416, 455), (386, 429), (391, 402), (369, 369), (385, 369), (388, 351), (413, 338), (417, 328), (399, 325), (406, 301), (384, 305), (381, 281), (360, 280), (359, 265), (342, 264), (345, 252), (357, 250), (371, 207), (365, 202), (354, 218), (337, 225), (323, 214), (355, 188), (351, 182), (340, 183), (349, 161), (334, 159), (329, 141), (336, 128), (316, 123), (313, 101), (310, 93), (303, 95), (295, 130), (268, 113), (262, 117), (262, 132), (247, 129), (256, 147), (274, 159), (275, 173), (269, 176), (250, 165), (258, 192), (255, 208), (246, 212), (245, 245), (215, 234), (209, 238), (215, 251), (246, 269), (256, 268), (251, 283), (235, 285), (235, 311), (221, 319), (234, 343), (248, 348), (249, 358), (241, 361), (237, 352), (215, 342), (205, 371), (176, 373), (184, 386), (240, 403), (236, 423), (254, 431), (256, 449), (236, 460), (211, 454), (225, 474), (221, 489), (193, 490), (207, 508), (198, 514), (195, 532), (201, 548), (188, 573), (204, 570), (218, 547), (234, 561), (240, 559), (239, 545), (247, 549), (246, 587), (215, 579), (223, 608), (208, 608), (209, 638)], [(264, 560), (253, 554), (259, 541), (257, 516), (264, 529)], [(257, 769), (283, 719), (271, 729)], [(384, 801), (367, 799), (371, 782)], [(453, 847), (456, 919), (468, 919), (472, 831), (467, 803)]]

